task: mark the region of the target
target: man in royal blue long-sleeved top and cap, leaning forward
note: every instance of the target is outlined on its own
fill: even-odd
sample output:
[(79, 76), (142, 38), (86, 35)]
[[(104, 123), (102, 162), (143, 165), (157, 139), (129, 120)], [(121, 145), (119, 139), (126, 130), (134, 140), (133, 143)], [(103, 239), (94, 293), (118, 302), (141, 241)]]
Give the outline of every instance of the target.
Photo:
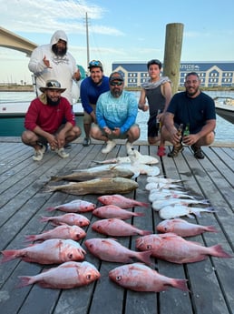
[(108, 77), (103, 75), (102, 63), (100, 61), (91, 61), (88, 68), (90, 70), (90, 76), (86, 77), (81, 84), (81, 100), (84, 110), (84, 147), (88, 147), (91, 144), (90, 130), (92, 123), (96, 123), (95, 111), (97, 99), (102, 93), (110, 89)]

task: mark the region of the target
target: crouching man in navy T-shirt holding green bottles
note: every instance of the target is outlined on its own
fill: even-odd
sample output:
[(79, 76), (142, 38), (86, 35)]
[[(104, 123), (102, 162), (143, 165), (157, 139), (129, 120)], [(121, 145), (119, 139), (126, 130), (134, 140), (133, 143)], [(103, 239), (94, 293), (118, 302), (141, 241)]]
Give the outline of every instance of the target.
[[(200, 77), (196, 72), (185, 76), (185, 91), (175, 94), (167, 109), (161, 128), (161, 137), (173, 144), (168, 157), (177, 157), (183, 145), (191, 147), (194, 157), (203, 159), (200, 147), (214, 141), (216, 127), (215, 104), (213, 99), (200, 91)], [(178, 127), (188, 126), (189, 135), (182, 137)]]

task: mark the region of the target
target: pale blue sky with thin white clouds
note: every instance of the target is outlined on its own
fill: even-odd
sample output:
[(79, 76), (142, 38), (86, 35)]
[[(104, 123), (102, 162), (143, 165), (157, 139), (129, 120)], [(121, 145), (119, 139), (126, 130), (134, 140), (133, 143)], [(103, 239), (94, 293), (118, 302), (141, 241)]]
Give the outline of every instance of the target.
[[(181, 61), (234, 60), (233, 0), (0, 0), (0, 26), (40, 46), (56, 30), (68, 36), (68, 49), (87, 70), (88, 16), (90, 60), (104, 74), (112, 62), (163, 62), (166, 27), (183, 25)], [(0, 46), (0, 82), (32, 83), (29, 58)]]

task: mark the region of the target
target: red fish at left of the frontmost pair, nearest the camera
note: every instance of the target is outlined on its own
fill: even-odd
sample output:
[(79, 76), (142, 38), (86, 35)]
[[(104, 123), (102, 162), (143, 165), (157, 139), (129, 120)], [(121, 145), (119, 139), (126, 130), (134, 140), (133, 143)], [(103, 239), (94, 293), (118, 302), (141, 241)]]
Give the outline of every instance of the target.
[(100, 278), (99, 271), (86, 261), (65, 262), (57, 268), (50, 268), (36, 276), (19, 276), (19, 288), (37, 283), (42, 288), (73, 289), (86, 286)]

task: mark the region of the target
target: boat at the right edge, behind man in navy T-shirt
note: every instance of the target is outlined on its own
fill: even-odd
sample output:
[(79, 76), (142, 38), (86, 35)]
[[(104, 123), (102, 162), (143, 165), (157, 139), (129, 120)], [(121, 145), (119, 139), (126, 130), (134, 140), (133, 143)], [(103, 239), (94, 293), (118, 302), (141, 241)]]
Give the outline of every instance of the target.
[(217, 96), (214, 101), (217, 115), (234, 124), (234, 98)]

